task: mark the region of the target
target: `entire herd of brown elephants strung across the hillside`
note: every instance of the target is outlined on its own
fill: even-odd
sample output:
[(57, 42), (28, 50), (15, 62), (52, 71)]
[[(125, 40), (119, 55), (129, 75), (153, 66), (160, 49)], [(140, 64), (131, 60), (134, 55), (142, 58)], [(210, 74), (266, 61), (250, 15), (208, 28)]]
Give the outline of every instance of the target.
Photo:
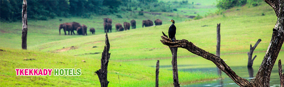
[[(112, 30), (112, 19), (110, 18), (103, 18), (104, 19), (104, 33), (106, 32), (111, 32)], [(162, 20), (160, 19), (156, 19), (155, 21), (155, 25), (162, 25)], [(131, 23), (131, 24), (130, 24)], [(124, 22), (122, 27), (122, 24), (117, 23), (115, 24), (115, 31), (124, 31), (124, 30), (129, 30), (130, 29), (130, 25), (132, 29), (136, 29), (136, 21), (133, 19), (129, 22)], [(153, 22), (151, 20), (143, 20), (142, 21), (142, 27), (147, 27), (147, 26), (153, 26)], [(70, 31), (71, 31), (71, 35), (74, 34), (74, 30), (77, 31), (77, 35), (87, 35), (87, 26), (84, 24), (80, 24), (78, 22), (71, 22), (71, 23), (63, 23), (63, 24), (59, 24), (59, 35), (60, 30), (63, 29), (65, 35), (66, 31), (68, 31), (68, 35), (70, 35)], [(95, 29), (94, 28), (90, 28), (90, 33), (95, 34)]]

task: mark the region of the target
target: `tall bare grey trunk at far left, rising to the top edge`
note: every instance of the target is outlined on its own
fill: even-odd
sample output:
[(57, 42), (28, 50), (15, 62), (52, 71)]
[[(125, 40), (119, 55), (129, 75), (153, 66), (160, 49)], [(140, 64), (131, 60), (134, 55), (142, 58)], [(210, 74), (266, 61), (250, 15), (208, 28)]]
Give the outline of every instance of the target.
[(27, 1), (23, 0), (22, 10), (22, 49), (27, 49), (27, 35), (28, 35), (28, 19), (27, 19)]

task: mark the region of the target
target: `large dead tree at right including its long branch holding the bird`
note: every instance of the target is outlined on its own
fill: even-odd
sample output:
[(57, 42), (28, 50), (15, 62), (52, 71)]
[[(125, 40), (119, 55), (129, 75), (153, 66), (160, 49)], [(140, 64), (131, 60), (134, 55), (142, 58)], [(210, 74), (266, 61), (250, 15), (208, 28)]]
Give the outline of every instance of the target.
[(279, 51), (283, 45), (284, 41), (284, 0), (264, 0), (267, 4), (272, 6), (274, 9), (277, 21), (275, 27), (272, 29), (272, 38), (268, 49), (265, 53), (263, 61), (260, 65), (260, 68), (256, 74), (256, 77), (247, 81), (244, 78), (239, 77), (220, 57), (211, 54), (199, 47), (196, 47), (192, 42), (189, 42), (185, 39), (175, 40), (172, 42), (171, 39), (161, 36), (160, 40), (164, 45), (169, 47), (181, 47), (187, 49), (189, 52), (201, 56), (209, 61), (212, 61), (217, 65), (220, 70), (225, 72), (236, 84), (240, 87), (269, 87), (270, 74), (273, 68), (273, 65), (278, 57)]

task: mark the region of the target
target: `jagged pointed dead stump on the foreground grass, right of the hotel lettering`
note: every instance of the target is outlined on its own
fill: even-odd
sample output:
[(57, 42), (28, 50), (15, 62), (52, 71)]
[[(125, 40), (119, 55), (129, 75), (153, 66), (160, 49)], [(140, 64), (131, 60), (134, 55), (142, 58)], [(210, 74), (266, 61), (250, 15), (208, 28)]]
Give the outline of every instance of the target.
[(101, 59), (101, 69), (97, 70), (95, 73), (98, 75), (101, 87), (107, 87), (109, 81), (107, 80), (107, 68), (108, 68), (108, 60), (110, 58), (111, 53), (109, 51), (109, 41), (108, 41), (108, 34), (106, 33), (106, 45), (104, 46), (104, 51), (102, 52), (102, 59)]

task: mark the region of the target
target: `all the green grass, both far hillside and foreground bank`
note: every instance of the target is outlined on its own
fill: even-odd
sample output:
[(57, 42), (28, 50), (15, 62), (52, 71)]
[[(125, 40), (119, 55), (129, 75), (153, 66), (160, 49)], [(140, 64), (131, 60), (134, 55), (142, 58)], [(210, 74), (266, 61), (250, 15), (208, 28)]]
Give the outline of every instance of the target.
[[(211, 2), (214, 3), (214, 1)], [(204, 5), (210, 6), (212, 4)], [(28, 50), (19, 50), (21, 49), (22, 23), (1, 22), (0, 48), (6, 50), (0, 53), (0, 62), (3, 66), (0, 68), (1, 86), (99, 86), (100, 83), (98, 77), (94, 75), (94, 71), (100, 68), (100, 53), (105, 45), (102, 20), (104, 17), (113, 19), (113, 32), (108, 33), (111, 45), (111, 58), (108, 67), (110, 87), (119, 86), (118, 75), (121, 86), (154, 86), (155, 68), (120, 61), (171, 58), (169, 47), (160, 42), (162, 31), (167, 33), (171, 24), (169, 19), (176, 21), (177, 39), (187, 39), (213, 54), (216, 51), (216, 26), (217, 23), (221, 23), (222, 55), (246, 53), (249, 51), (249, 45), (254, 45), (258, 39), (262, 39), (262, 41), (254, 52), (265, 52), (277, 18), (274, 10), (266, 3), (256, 7), (232, 8), (226, 10), (222, 15), (208, 15), (199, 20), (187, 18), (184, 13), (180, 13), (180, 15), (160, 13), (162, 15), (144, 13), (144, 16), (139, 16), (137, 13), (117, 13), (123, 18), (117, 18), (116, 15), (100, 15), (91, 19), (71, 17), (49, 19), (48, 21), (28, 20)], [(169, 14), (174, 16), (167, 16)], [(122, 24), (125, 21), (130, 22), (132, 19), (136, 20), (137, 29), (115, 32), (114, 25), (116, 23)], [(152, 21), (162, 19), (163, 25), (142, 28), (142, 20), (144, 19)], [(88, 29), (94, 27), (96, 34), (91, 35), (88, 32), (87, 36), (59, 35), (59, 24), (73, 21), (87, 25)], [(204, 25), (207, 26), (202, 27)], [(94, 46), (96, 47), (93, 48)], [(178, 58), (190, 56), (194, 56), (194, 54), (185, 49), (178, 49)], [(23, 58), (35, 58), (36, 60), (23, 61)], [(82, 60), (86, 60), (86, 63), (81, 62)], [(16, 76), (15, 68), (81, 68), (82, 75), (79, 77)], [(115, 72), (119, 72), (119, 74)], [(170, 70), (160, 70), (160, 86), (172, 85), (171, 73)], [(180, 78), (180, 84), (189, 84), (195, 81), (214, 79), (217, 76), (206, 75), (202, 72), (179, 72), (179, 77), (184, 77)]]

